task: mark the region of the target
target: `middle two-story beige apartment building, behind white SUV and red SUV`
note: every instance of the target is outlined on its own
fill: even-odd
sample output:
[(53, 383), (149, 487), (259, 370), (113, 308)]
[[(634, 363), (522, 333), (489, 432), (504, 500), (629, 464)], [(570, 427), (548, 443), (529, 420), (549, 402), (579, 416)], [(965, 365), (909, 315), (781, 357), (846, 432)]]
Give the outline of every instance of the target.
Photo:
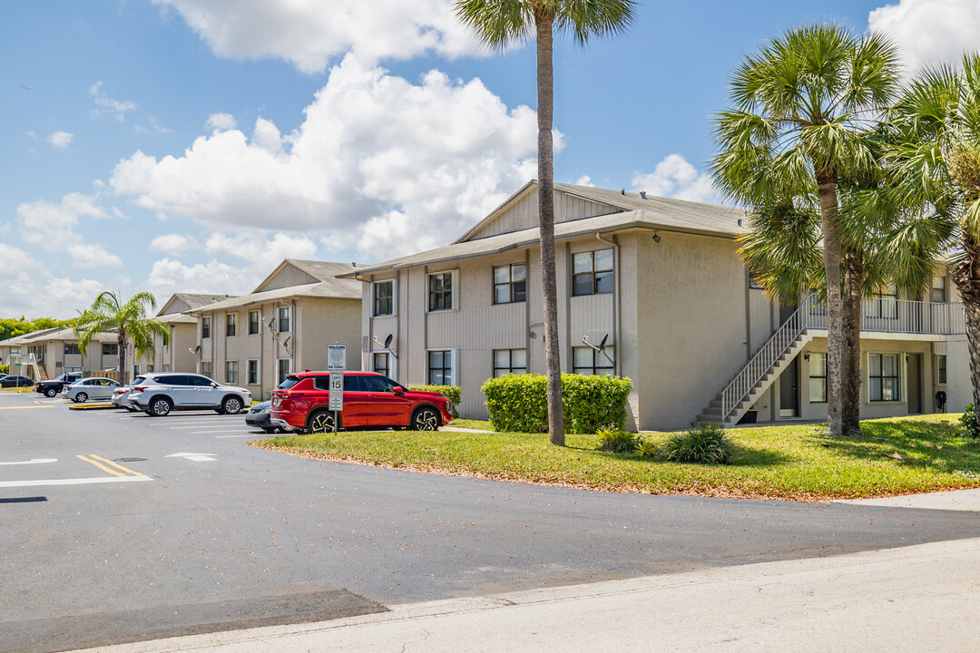
[[(326, 367), (327, 343), (361, 343), (361, 284), (341, 279), (354, 267), (283, 260), (241, 297), (184, 311), (197, 320), (196, 369), (268, 398), (290, 372)], [(358, 356), (348, 356), (360, 369)]]

